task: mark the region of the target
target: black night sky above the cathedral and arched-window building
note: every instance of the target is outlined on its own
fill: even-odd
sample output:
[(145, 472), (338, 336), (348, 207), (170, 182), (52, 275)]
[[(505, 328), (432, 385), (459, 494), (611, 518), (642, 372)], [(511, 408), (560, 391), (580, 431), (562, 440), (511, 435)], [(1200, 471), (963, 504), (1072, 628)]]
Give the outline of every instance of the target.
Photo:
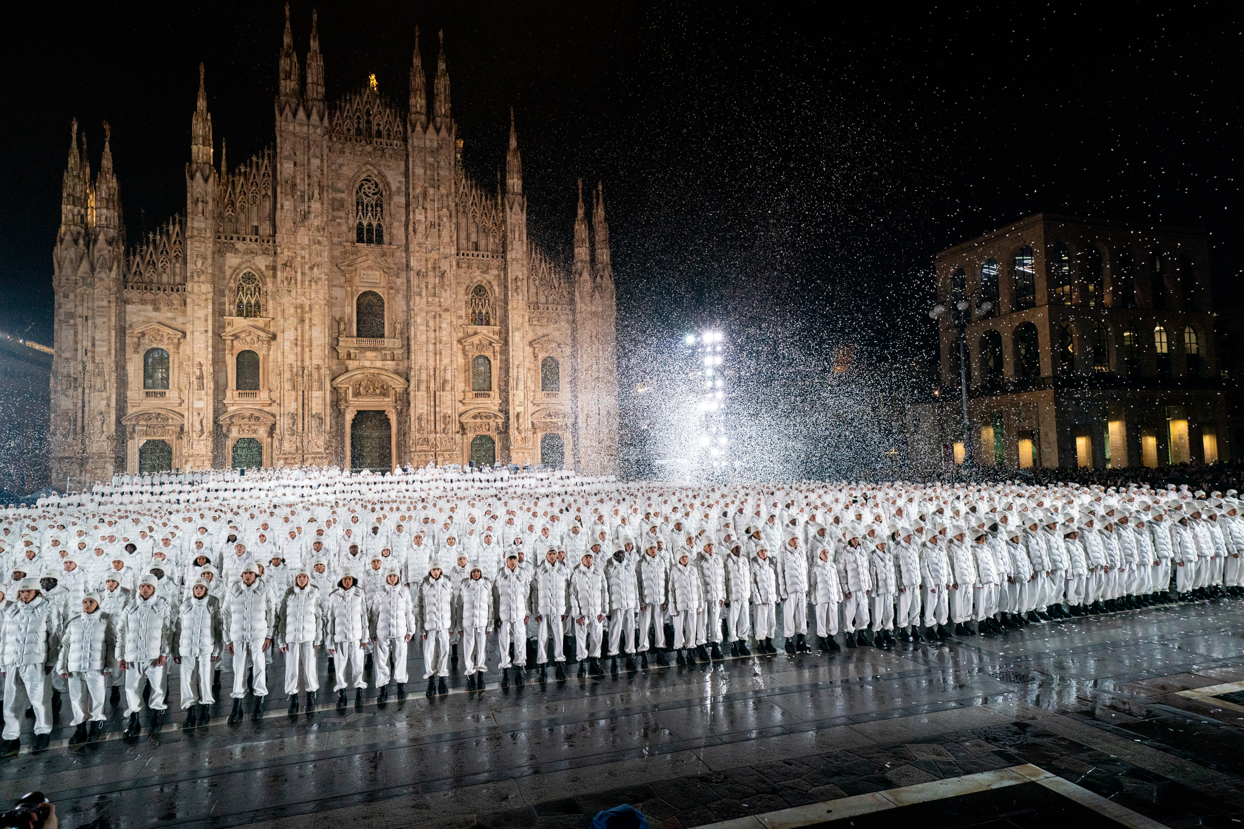
[[(10, 21), (0, 328), (51, 343), (70, 119), (112, 126), (131, 246), (185, 208), (198, 63), (216, 159), (270, 145), (280, 2), (37, 4)], [(624, 382), (690, 327), (820, 353), (927, 343), (932, 256), (1037, 211), (1240, 250), (1238, 4), (318, 4), (327, 98), (374, 72), (406, 108), (414, 27), (444, 29), (464, 163), (495, 186), (518, 113), (530, 232), (569, 257), (603, 179)], [(1116, 10), (1118, 14), (1115, 14)], [(292, 4), (305, 67), (311, 4)], [(1237, 292), (1238, 293), (1238, 292)]]

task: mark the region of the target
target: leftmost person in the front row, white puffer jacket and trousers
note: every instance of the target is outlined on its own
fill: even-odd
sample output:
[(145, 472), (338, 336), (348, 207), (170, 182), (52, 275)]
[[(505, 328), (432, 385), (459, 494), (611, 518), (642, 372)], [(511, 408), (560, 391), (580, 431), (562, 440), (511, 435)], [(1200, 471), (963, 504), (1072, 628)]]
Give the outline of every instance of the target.
[(35, 712), (34, 749), (47, 748), (52, 732), (52, 684), (47, 674), (61, 646), (60, 613), (44, 599), (39, 579), (24, 578), (16, 588), (17, 600), (0, 616), (0, 667), (5, 675), (0, 756), (17, 753), (25, 700)]

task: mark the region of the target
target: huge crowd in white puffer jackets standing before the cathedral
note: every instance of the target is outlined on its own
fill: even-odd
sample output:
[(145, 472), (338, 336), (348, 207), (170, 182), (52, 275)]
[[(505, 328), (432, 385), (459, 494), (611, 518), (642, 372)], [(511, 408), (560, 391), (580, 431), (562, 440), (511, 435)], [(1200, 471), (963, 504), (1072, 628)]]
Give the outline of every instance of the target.
[(194, 728), (225, 664), (233, 723), (248, 696), (262, 716), (277, 659), (296, 716), (315, 710), (325, 660), (340, 707), (351, 690), (363, 703), (368, 669), (377, 703), (391, 684), (404, 698), (411, 643), (435, 697), (459, 661), (466, 691), (545, 687), (567, 661), (586, 676), (620, 659), (639, 671), (776, 654), (779, 624), (787, 654), (833, 653), (1240, 597), (1239, 506), (1234, 490), (1173, 486), (685, 486), (508, 469), (118, 477), (0, 511), (0, 751), (19, 751), (31, 715), (46, 748), (61, 695), (71, 743), (101, 737), (109, 698), (124, 737), (144, 710), (158, 730), (172, 666)]

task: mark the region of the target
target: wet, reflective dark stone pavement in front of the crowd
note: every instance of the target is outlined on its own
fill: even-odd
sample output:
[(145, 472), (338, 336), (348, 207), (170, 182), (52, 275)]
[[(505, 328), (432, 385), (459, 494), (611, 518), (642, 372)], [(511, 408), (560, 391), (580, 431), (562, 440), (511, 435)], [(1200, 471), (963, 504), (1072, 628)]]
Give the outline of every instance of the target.
[[(423, 696), (417, 656), (409, 667), (401, 702), (378, 707), (368, 691), (341, 711), (322, 689), (321, 710), (291, 720), (272, 694), (262, 721), (229, 726), (224, 697), (211, 725), (192, 732), (180, 730), (174, 677), (159, 733), (121, 740), (109, 706), (104, 740), (81, 747), (66, 744), (66, 702), (49, 751), (24, 746), (0, 761), (0, 795), (42, 789), (68, 828), (107, 818), (195, 829), (577, 829), (631, 803), (654, 828), (678, 829), (1031, 763), (1168, 827), (1244, 820), (1244, 705), (1230, 697), (1244, 685), (1181, 694), (1244, 682), (1244, 602), (937, 646), (779, 653), (617, 677), (571, 669), (544, 689), (531, 676), (503, 691), (493, 671), (485, 691), (466, 692), (454, 675), (450, 695), (434, 700)], [(277, 655), (270, 687), (281, 675)], [(230, 681), (226, 671), (224, 694)], [(321, 682), (331, 687), (327, 675)], [(954, 810), (939, 808), (922, 820), (940, 824), (935, 815)]]

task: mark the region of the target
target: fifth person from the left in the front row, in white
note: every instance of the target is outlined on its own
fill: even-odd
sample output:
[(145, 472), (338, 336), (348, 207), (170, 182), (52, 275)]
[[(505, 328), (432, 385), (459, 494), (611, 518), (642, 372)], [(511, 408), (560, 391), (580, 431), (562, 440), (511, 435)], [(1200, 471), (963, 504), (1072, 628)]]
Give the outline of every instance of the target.
[(233, 656), (234, 687), (233, 710), (229, 722), (243, 717), (243, 700), (246, 698), (246, 667), (251, 669), (250, 691), (255, 695), (251, 720), (264, 716), (264, 698), (267, 696), (267, 649), (272, 646), (272, 628), (276, 625), (276, 599), (259, 578), (259, 564), (248, 557), (239, 566), (239, 578), (225, 593), (221, 611), (226, 650)]

